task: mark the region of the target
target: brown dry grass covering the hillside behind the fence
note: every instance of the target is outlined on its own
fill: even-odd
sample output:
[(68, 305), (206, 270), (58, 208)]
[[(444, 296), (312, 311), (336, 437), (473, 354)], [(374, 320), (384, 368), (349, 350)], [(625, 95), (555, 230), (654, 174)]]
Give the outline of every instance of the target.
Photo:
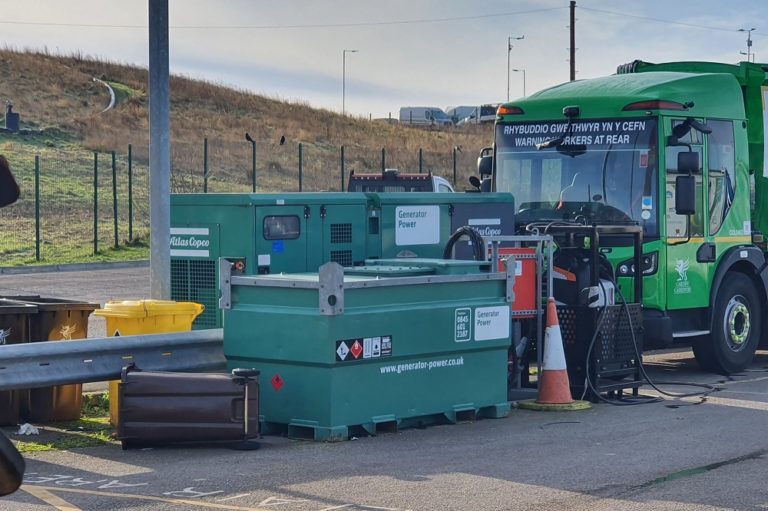
[[(101, 112), (109, 94), (93, 77), (119, 87), (115, 109)], [(130, 143), (134, 157), (144, 162), (149, 153), (147, 78), (146, 69), (79, 54), (0, 50), (0, 97), (13, 100), (22, 126), (46, 129), (92, 151), (124, 153)], [(205, 138), (209, 175), (222, 187), (214, 190), (247, 189), (251, 146), (246, 131), (256, 139), (263, 191), (295, 189), (299, 143), (306, 190), (338, 189), (342, 145), (347, 171), (379, 168), (382, 148), (387, 166), (413, 171), (421, 148), (425, 169), (445, 176), (452, 175), (453, 147), (461, 146), (458, 170), (466, 181), (479, 150), (492, 140), (487, 125), (444, 131), (390, 126), (181, 76), (171, 77), (171, 127), (175, 191), (199, 191)], [(287, 143), (281, 146), (283, 135)]]

